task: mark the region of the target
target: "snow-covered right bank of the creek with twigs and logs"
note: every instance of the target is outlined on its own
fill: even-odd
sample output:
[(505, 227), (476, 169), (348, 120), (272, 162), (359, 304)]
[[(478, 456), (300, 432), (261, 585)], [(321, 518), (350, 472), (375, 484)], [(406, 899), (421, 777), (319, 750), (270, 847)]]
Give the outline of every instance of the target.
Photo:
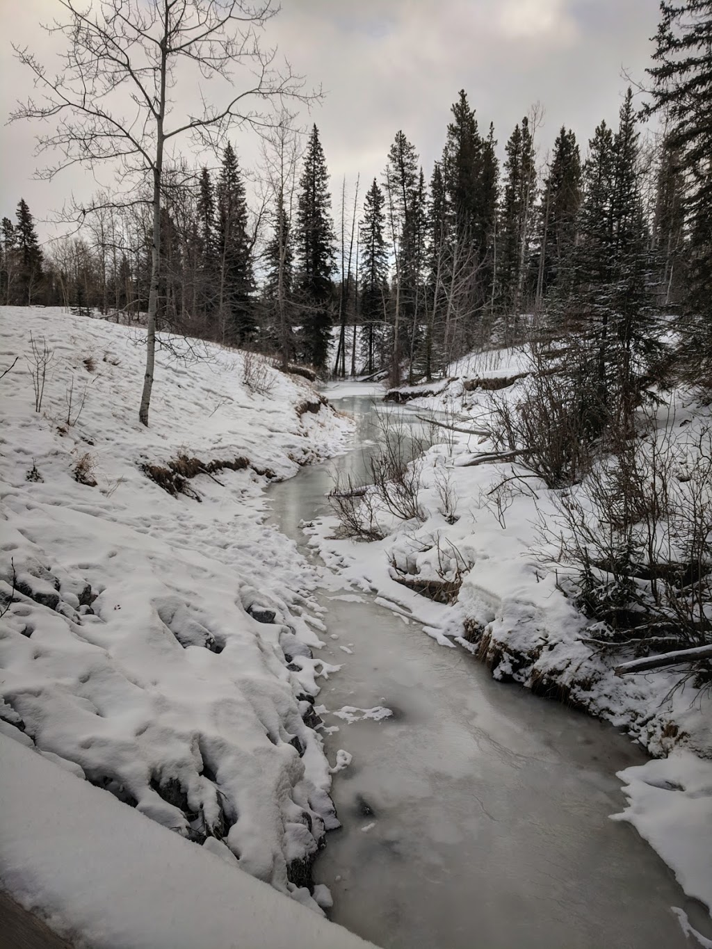
[[(444, 413), (459, 428), (482, 430), (487, 393), (470, 381), (484, 377), (497, 380), (497, 387), (515, 380), (499, 393), (515, 400), (516, 379), (527, 369), (523, 350), (470, 357), (450, 367), (451, 381), (439, 394), (413, 398), (417, 387), (410, 387), (403, 411), (429, 409)], [(706, 410), (678, 400), (675, 411), (676, 431), (692, 444)], [(674, 672), (617, 677), (613, 667), (620, 658), (583, 642), (591, 635), (590, 621), (562, 592), (566, 568), (551, 566), (542, 556), (539, 526), (542, 521), (556, 526), (555, 493), (511, 462), (468, 466), (474, 456), (492, 449), (487, 437), (438, 431), (436, 440), (447, 443), (435, 444), (422, 460), (422, 523), (403, 522), (382, 510), (377, 521), (384, 539), (358, 543), (340, 538), (336, 518), (327, 517), (308, 528), (312, 543), (354, 586), (404, 607), (441, 645), (478, 653), (495, 678), (567, 698), (628, 731), (650, 754), (666, 757), (621, 773), (630, 800), (624, 816), (675, 870), (685, 890), (712, 910), (709, 692), (689, 682), (673, 689), (680, 679)], [(526, 479), (493, 496), (512, 474)], [(455, 516), (448, 516), (453, 509)], [(454, 605), (403, 586), (403, 581), (459, 579)], [(684, 832), (674, 832), (678, 825)]]

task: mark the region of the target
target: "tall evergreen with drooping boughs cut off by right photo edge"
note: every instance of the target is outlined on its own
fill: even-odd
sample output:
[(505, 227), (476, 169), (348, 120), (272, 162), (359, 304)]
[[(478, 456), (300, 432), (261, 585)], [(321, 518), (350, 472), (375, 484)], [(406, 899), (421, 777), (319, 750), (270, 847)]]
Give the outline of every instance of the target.
[(685, 213), (689, 229), (689, 351), (712, 368), (712, 0), (661, 3), (655, 37), (653, 102), (646, 112), (665, 113), (668, 147), (689, 178)]

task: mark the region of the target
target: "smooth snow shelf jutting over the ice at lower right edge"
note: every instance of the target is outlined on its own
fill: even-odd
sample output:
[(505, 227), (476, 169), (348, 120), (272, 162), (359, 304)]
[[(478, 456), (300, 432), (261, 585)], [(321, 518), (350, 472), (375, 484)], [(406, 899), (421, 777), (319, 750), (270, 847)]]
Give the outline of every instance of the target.
[(712, 915), (712, 761), (678, 751), (618, 772), (629, 821)]

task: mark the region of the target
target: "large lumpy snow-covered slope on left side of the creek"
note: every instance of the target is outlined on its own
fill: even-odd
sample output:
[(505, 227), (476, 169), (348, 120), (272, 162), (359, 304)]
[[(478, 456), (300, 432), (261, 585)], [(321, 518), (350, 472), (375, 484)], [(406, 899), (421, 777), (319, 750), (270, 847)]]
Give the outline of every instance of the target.
[[(348, 423), (301, 379), (268, 368), (259, 394), (241, 354), (173, 340), (146, 429), (142, 330), (0, 316), (0, 372), (19, 356), (0, 381), (0, 727), (316, 908), (303, 884), (338, 822), (303, 716), (328, 669), (312, 569), (260, 495)], [(30, 334), (52, 357), (39, 413)]]

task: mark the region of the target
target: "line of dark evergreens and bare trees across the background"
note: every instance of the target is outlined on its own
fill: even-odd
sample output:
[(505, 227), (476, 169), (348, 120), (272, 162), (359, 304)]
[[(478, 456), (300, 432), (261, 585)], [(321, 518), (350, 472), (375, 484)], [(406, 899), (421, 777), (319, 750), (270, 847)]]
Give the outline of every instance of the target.
[[(662, 5), (644, 109), (662, 121), (648, 140), (628, 89), (585, 154), (562, 127), (541, 162), (534, 107), (500, 162), (494, 125), (480, 129), (462, 90), (429, 179), (398, 131), (362, 206), (357, 182), (347, 208), (344, 182), (336, 220), (316, 125), (272, 125), (251, 208), (232, 143), (213, 170), (166, 165), (158, 326), (396, 383), (440, 376), (476, 346), (515, 344), (535, 322), (575, 336), (604, 409), (654, 371), (670, 317), (712, 364), (711, 9)], [(3, 219), (3, 302), (146, 311), (155, 209), (136, 196), (117, 207), (99, 195), (82, 232), (44, 255), (21, 201), (17, 223)]]

